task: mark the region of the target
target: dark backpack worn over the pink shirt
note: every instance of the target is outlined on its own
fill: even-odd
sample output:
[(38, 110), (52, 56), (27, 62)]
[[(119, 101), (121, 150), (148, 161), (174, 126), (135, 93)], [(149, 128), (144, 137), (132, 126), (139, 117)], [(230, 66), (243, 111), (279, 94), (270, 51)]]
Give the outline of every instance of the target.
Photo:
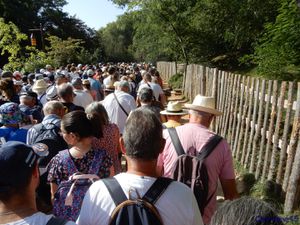
[(222, 137), (219, 135), (212, 136), (203, 146), (198, 155), (192, 156), (187, 155), (183, 150), (176, 129), (168, 128), (168, 132), (178, 155), (178, 158), (173, 165), (171, 178), (186, 184), (192, 189), (201, 215), (203, 215), (206, 205), (214, 196), (214, 193), (211, 196), (208, 196), (209, 177), (205, 165), (205, 159), (220, 143)]

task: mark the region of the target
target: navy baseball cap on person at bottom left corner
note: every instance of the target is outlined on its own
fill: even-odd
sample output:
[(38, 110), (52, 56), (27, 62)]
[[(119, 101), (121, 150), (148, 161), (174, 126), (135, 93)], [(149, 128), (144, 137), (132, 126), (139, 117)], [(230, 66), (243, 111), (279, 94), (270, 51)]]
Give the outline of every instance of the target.
[(4, 143), (0, 147), (0, 192), (25, 185), (35, 162), (48, 154), (48, 147), (42, 143), (32, 146), (19, 141)]

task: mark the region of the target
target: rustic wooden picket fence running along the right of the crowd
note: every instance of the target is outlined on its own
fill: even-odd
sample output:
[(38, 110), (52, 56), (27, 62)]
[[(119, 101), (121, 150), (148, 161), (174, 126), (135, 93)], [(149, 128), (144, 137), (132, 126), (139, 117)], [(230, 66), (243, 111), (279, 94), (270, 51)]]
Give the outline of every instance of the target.
[[(159, 62), (157, 68), (163, 79), (177, 71), (175, 63)], [(282, 185), (286, 213), (299, 207), (300, 83), (188, 65), (184, 84), (190, 101), (197, 94), (216, 98), (223, 115), (213, 130), (227, 139), (235, 160), (257, 179)]]

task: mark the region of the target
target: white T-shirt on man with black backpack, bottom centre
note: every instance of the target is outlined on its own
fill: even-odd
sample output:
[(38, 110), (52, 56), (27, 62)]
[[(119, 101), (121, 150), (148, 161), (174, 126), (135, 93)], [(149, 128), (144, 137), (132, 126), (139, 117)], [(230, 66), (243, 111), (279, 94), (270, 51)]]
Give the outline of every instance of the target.
[[(115, 176), (126, 197), (144, 196), (155, 182), (155, 177), (138, 176), (120, 173)], [(203, 225), (200, 211), (191, 189), (186, 185), (173, 181), (155, 203), (164, 225)], [(78, 225), (109, 223), (110, 215), (116, 208), (103, 181), (96, 181), (86, 193)]]

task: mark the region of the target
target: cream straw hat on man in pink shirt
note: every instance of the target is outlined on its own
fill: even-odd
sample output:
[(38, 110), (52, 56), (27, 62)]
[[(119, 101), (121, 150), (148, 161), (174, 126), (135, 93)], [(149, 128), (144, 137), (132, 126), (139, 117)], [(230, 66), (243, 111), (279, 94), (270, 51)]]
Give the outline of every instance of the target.
[(215, 108), (216, 101), (214, 97), (197, 95), (192, 104), (185, 104), (184, 108), (196, 111), (206, 112), (221, 116), (223, 113)]

